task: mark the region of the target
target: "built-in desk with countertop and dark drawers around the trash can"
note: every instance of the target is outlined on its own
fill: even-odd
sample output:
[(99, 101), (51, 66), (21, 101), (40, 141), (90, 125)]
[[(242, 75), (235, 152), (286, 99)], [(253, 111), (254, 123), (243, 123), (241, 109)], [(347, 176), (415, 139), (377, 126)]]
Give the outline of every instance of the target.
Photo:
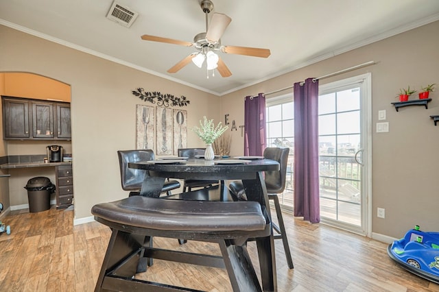
[(56, 208), (73, 204), (73, 171), (71, 162), (16, 162), (0, 165), (0, 169), (25, 169), (32, 167), (55, 167)]

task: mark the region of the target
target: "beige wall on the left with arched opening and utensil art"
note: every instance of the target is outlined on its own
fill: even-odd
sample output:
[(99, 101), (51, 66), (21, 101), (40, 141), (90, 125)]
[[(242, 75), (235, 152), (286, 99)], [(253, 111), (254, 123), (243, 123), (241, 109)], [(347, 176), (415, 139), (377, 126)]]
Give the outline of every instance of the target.
[[(29, 72), (71, 86), (71, 122), (75, 219), (91, 216), (91, 207), (126, 197), (116, 151), (135, 148), (135, 108), (146, 104), (132, 95), (138, 87), (180, 96), (191, 104), (188, 127), (202, 119), (219, 121), (220, 98), (102, 58), (56, 45), (0, 26), (0, 72)], [(152, 105), (152, 104), (146, 104)], [(188, 147), (202, 141), (188, 131)]]

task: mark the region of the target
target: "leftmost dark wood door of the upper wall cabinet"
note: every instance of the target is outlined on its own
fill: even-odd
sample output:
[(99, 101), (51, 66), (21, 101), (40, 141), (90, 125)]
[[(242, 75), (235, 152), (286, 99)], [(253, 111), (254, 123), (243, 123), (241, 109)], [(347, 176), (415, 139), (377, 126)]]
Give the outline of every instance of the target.
[(29, 102), (2, 98), (3, 137), (29, 138)]

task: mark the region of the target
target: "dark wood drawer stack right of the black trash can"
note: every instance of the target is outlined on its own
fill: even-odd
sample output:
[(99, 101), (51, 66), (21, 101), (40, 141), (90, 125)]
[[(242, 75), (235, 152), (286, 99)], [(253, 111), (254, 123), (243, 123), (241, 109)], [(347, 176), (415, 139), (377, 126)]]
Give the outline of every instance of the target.
[(67, 208), (73, 204), (73, 171), (71, 165), (56, 167), (56, 208)]

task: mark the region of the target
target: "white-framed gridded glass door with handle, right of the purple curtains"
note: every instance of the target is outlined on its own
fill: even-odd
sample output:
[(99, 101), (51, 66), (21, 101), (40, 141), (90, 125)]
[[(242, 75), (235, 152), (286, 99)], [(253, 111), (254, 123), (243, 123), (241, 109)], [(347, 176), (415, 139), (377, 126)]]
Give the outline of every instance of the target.
[(319, 87), (322, 221), (370, 236), (370, 74)]

